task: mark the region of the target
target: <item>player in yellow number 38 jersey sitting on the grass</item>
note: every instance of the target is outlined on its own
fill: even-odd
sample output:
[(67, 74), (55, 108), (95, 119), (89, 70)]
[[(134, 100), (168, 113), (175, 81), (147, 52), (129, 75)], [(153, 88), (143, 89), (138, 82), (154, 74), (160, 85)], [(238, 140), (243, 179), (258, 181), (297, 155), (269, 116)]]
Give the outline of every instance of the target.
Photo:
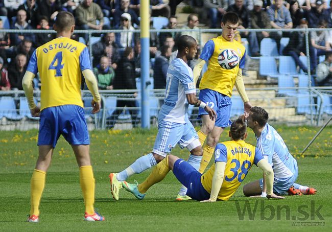
[[(267, 197), (283, 199), (273, 194), (273, 169), (268, 161), (263, 158), (259, 149), (247, 144), (244, 116), (234, 121), (230, 126), (230, 141), (219, 143), (214, 152), (215, 164), (204, 174), (195, 170), (183, 159), (175, 155), (168, 155), (159, 164), (163, 165), (163, 171), (154, 169), (146, 182), (152, 177), (159, 176), (162, 180), (172, 170), (176, 178), (188, 189), (186, 195), (202, 202), (214, 202), (228, 200), (246, 177), (253, 164), (263, 170), (267, 182)], [(139, 186), (139, 185), (138, 185)], [(137, 199), (139, 196), (137, 184), (123, 181), (123, 187), (131, 192)]]

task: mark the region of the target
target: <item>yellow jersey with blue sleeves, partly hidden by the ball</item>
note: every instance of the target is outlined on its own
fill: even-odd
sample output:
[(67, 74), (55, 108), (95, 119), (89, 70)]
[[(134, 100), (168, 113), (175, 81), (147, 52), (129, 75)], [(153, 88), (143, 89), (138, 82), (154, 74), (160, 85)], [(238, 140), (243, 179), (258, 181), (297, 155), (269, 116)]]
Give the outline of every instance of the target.
[[(232, 49), (238, 53), (240, 58), (239, 65), (232, 69), (224, 69), (220, 66), (218, 63), (218, 57), (225, 49)], [(208, 65), (207, 71), (202, 77), (199, 88), (208, 88), (231, 97), (239, 68), (244, 68), (245, 66), (246, 49), (244, 45), (235, 39), (230, 42), (224, 39), (224, 37), (219, 36), (206, 42), (200, 55), (200, 59), (205, 60)]]

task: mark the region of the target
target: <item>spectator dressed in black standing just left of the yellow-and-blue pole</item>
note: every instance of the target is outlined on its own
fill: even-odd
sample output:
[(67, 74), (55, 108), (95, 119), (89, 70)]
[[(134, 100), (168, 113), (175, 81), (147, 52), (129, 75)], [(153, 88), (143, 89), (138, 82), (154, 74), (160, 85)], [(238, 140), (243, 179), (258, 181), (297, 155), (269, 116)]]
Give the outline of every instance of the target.
[[(123, 59), (120, 62), (113, 81), (113, 89), (136, 89), (136, 80), (135, 80), (135, 65), (134, 65), (134, 50), (131, 47), (125, 49), (123, 54)], [(137, 92), (134, 92), (133, 97), (137, 97)], [(116, 107), (136, 107), (136, 102), (130, 100), (118, 100), (116, 102)], [(133, 127), (137, 125), (137, 113), (135, 109), (128, 109), (131, 114), (131, 122)], [(114, 114), (111, 117), (111, 123), (114, 123), (117, 115), (122, 112), (121, 109), (115, 110)], [(111, 125), (112, 127), (112, 125)]]

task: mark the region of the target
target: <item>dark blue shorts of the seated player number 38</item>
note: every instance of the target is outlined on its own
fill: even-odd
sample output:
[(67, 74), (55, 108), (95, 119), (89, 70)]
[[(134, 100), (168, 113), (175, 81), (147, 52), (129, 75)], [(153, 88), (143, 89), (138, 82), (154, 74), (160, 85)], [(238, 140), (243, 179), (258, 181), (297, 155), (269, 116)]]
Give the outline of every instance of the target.
[(210, 199), (210, 194), (204, 189), (201, 182), (202, 174), (186, 161), (183, 159), (176, 160), (173, 166), (173, 173), (188, 189), (187, 196), (198, 201)]

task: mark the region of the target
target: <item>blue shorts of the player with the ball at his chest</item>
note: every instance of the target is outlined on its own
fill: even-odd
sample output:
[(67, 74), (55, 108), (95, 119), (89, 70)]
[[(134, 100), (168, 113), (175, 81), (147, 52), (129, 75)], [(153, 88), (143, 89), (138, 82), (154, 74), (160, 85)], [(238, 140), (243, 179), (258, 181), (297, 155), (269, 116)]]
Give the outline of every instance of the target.
[[(230, 97), (220, 94), (220, 92), (215, 90), (205, 88), (199, 92), (198, 99), (216, 111), (217, 120), (215, 126), (227, 127), (231, 124), (229, 121), (230, 109), (232, 107)], [(201, 118), (203, 114), (208, 113), (203, 108), (199, 107), (198, 118)]]

